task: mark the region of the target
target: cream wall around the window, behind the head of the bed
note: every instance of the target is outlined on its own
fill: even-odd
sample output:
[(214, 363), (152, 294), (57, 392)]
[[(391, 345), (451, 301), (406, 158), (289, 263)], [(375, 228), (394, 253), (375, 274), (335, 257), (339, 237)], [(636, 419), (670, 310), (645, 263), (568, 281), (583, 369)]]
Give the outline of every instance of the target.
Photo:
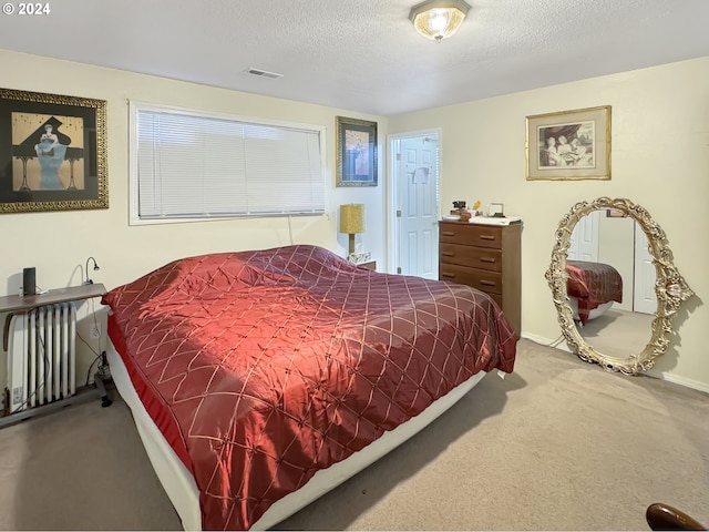
[[(111, 289), (177, 257), (289, 244), (287, 218), (129, 226), (129, 100), (327, 126), (327, 180), (331, 184), (328, 212), (292, 218), (294, 243), (321, 245), (343, 256), (348, 237), (338, 233), (338, 207), (342, 203), (364, 203), (368, 232), (358, 235), (357, 242), (383, 264), (383, 231), (379, 229), (383, 186), (335, 187), (336, 116), (377, 121), (380, 142), (387, 135), (381, 116), (2, 50), (0, 65), (3, 89), (106, 100), (110, 201), (110, 208), (100, 211), (0, 214), (0, 295), (19, 293), (22, 268), (28, 266), (37, 268), (39, 286), (61, 288), (81, 284), (86, 258), (93, 256), (101, 270), (91, 272), (91, 277)], [(101, 305), (95, 303), (94, 307)], [(80, 316), (90, 309), (91, 305), (83, 305)], [(89, 319), (82, 317), (81, 324), (88, 329)], [(93, 355), (81, 344), (80, 349), (78, 379), (83, 383), (84, 368)], [(0, 356), (0, 382), (4, 382), (4, 366)]]

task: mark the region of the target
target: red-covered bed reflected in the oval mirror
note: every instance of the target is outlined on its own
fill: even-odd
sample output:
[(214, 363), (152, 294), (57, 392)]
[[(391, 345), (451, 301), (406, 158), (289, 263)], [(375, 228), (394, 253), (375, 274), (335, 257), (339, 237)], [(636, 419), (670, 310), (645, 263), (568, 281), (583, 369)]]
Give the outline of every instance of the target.
[(582, 326), (623, 303), (623, 277), (604, 263), (566, 260), (566, 293), (574, 319)]

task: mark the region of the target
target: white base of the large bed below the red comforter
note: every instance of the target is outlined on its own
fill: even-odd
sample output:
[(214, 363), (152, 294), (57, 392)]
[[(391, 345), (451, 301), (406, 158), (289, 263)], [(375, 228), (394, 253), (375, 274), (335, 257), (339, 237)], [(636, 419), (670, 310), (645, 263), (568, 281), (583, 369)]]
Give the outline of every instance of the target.
[[(163, 484), (167, 497), (175, 507), (182, 520), (183, 528), (185, 530), (202, 530), (199, 491), (197, 490), (195, 480), (182, 460), (179, 460), (169, 447), (157, 426), (153, 423), (137, 392), (133, 388), (123, 360), (111, 342), (109, 344), (106, 355), (109, 365), (111, 366), (111, 376), (113, 377), (119, 393), (121, 393), (121, 397), (133, 413), (135, 426), (145, 447), (147, 457), (153, 464), (153, 469)], [(266, 530), (278, 524), (280, 521), (338, 487), (350, 477), (353, 477), (372, 462), (379, 460), (455, 405), (455, 402), (467, 393), (485, 375), (486, 372), (484, 371), (474, 375), (448, 395), (433, 402), (415, 418), (410, 419), (392, 431), (386, 432), (381, 438), (346, 460), (318, 471), (298, 491), (275, 502), (268, 511), (254, 523), (250, 530)]]

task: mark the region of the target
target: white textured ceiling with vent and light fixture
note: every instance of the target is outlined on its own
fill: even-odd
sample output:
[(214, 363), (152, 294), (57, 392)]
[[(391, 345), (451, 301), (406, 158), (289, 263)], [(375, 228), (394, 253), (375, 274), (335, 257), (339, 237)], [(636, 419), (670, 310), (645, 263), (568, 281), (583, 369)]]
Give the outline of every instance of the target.
[(467, 0), (441, 43), (418, 1), (53, 0), (0, 49), (381, 115), (709, 55), (709, 0)]

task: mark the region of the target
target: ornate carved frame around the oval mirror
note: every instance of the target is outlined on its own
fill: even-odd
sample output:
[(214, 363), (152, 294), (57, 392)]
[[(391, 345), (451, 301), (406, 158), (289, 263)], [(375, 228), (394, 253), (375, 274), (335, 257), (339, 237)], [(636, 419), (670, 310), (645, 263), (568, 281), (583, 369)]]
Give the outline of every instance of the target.
[[(574, 314), (566, 293), (566, 257), (574, 227), (587, 214), (608, 208), (621, 211), (640, 225), (647, 235), (648, 250), (657, 273), (655, 282), (657, 310), (653, 320), (650, 341), (641, 352), (629, 354), (626, 359), (598, 352), (586, 342), (574, 323)], [(568, 347), (583, 360), (596, 362), (608, 371), (620, 371), (626, 375), (636, 375), (650, 369), (655, 365), (655, 359), (665, 354), (669, 337), (674, 334), (672, 318), (681, 303), (693, 295), (672, 264), (672, 255), (667, 245), (665, 232), (645, 208), (625, 198), (599, 197), (590, 203), (580, 202), (574, 205), (558, 224), (552, 264), (545, 277), (552, 288), (558, 323)]]

